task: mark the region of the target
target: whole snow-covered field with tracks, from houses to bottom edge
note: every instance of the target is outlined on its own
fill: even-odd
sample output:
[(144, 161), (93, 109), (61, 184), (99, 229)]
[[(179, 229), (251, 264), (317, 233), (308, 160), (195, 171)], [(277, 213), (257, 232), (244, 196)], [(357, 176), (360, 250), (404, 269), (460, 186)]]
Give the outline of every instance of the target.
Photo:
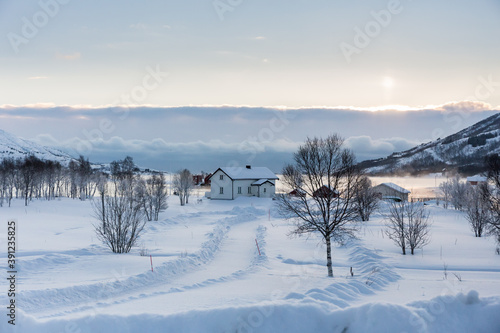
[[(117, 255), (89, 201), (14, 201), (0, 208), (0, 244), (16, 219), (17, 317), (14, 329), (2, 314), (0, 332), (500, 332), (500, 256), (462, 213), (431, 203), (431, 243), (403, 256), (382, 207), (334, 248), (331, 279), (321, 239), (289, 237), (273, 203), (171, 197)], [(2, 278), (5, 313), (7, 289)]]

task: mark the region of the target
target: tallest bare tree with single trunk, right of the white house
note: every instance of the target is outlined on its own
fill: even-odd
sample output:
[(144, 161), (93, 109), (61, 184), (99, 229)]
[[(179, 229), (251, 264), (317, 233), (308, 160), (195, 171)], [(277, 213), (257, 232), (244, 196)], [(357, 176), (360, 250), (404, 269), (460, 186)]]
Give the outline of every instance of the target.
[(326, 243), (328, 276), (333, 277), (331, 242), (353, 237), (359, 221), (356, 189), (360, 173), (354, 154), (338, 135), (308, 138), (294, 154), (295, 163), (283, 169), (282, 183), (305, 195), (278, 195), (282, 216), (293, 219), (293, 234), (318, 232)]

